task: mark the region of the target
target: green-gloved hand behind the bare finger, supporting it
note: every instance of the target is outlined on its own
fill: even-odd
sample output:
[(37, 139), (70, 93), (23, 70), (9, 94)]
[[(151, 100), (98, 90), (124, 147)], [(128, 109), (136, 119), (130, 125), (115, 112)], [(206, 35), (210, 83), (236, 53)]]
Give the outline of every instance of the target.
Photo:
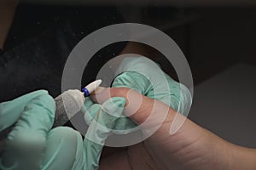
[[(166, 75), (152, 60), (145, 57), (127, 57), (116, 71), (113, 88), (131, 88), (149, 98), (171, 106), (184, 116), (189, 114), (192, 104), (189, 89)], [(130, 133), (136, 124), (127, 117), (117, 121), (114, 133)]]

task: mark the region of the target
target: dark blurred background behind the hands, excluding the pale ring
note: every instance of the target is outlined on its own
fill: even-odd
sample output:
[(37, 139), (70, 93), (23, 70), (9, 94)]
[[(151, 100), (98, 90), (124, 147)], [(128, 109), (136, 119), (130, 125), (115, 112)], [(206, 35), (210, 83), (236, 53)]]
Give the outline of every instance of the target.
[[(0, 101), (40, 88), (60, 94), (61, 73), (73, 47), (90, 32), (122, 22), (154, 26), (182, 49), (195, 82), (190, 119), (231, 142), (256, 146), (253, 0), (21, 0), (0, 58)], [(95, 54), (82, 83), (94, 80), (101, 66), (126, 44), (111, 44)], [(149, 54), (177, 78), (164, 56)]]

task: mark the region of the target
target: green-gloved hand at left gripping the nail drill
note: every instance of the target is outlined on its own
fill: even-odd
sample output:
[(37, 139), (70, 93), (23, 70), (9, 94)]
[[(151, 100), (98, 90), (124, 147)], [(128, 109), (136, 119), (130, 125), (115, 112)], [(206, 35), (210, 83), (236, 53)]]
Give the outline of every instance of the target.
[[(55, 127), (55, 102), (40, 90), (0, 104), (0, 132), (15, 125), (3, 148), (0, 169), (96, 169), (102, 146), (122, 114), (125, 99), (108, 99), (102, 105), (85, 99), (82, 111), (90, 125), (83, 141), (70, 127)], [(87, 110), (88, 109), (88, 110)], [(110, 116), (108, 113), (117, 114)], [(97, 126), (101, 124), (102, 127)], [(101, 141), (97, 144), (92, 141)]]

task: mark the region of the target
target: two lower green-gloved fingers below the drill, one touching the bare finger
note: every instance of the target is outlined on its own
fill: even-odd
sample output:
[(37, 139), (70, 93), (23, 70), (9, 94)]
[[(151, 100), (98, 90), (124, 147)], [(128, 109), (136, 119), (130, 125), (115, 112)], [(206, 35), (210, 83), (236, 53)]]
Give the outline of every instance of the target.
[[(99, 166), (105, 140), (121, 115), (125, 99), (108, 99), (102, 105), (86, 98), (82, 112), (89, 125), (84, 141), (78, 131), (70, 127), (56, 127), (49, 132), (42, 162), (45, 170), (95, 170)], [(111, 116), (110, 114), (117, 114)], [(97, 143), (93, 141), (98, 141)]]

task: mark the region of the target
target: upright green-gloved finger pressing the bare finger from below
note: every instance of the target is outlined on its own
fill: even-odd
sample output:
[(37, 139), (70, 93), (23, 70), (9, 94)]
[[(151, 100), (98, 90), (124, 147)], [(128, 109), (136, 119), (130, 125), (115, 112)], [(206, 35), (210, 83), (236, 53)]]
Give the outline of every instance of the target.
[[(85, 107), (90, 99), (85, 99)], [(113, 132), (114, 126), (123, 114), (125, 99), (115, 97), (108, 99), (102, 105), (94, 104), (85, 111), (84, 119), (89, 124), (89, 128), (84, 138), (84, 148), (86, 150), (86, 160), (90, 162), (87, 169), (97, 169), (102, 148), (108, 135)], [(88, 108), (88, 107), (87, 107)], [(91, 117), (94, 117), (93, 119)]]

